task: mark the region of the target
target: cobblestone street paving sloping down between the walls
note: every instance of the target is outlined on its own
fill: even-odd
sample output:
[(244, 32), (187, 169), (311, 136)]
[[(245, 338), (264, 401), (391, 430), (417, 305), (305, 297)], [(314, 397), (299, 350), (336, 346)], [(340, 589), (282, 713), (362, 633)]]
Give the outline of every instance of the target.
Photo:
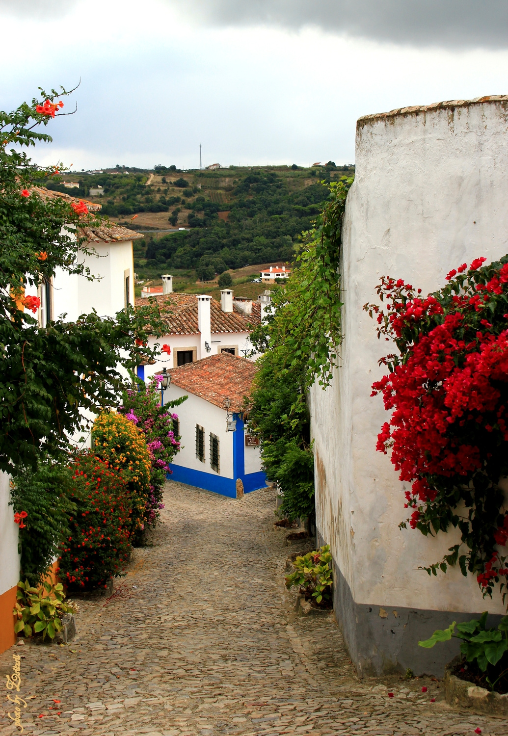
[(507, 736), (507, 721), (448, 707), (435, 680), (359, 680), (333, 616), (294, 614), (271, 489), (169, 483), (165, 502), (113, 595), (80, 602), (73, 642), (1, 655), (2, 675), (23, 657), (25, 734)]

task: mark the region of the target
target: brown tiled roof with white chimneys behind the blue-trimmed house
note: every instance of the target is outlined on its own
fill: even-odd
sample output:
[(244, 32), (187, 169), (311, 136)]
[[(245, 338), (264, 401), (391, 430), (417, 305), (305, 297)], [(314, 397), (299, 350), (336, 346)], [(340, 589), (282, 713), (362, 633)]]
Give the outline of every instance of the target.
[[(167, 305), (166, 314), (161, 310), (168, 335), (199, 334), (197, 319), (197, 294), (161, 294), (152, 297), (163, 307)], [(147, 297), (136, 300), (136, 305), (146, 306)], [(210, 300), (211, 332), (250, 332), (252, 326), (261, 322), (261, 305), (253, 304), (253, 314), (243, 315), (233, 305), (233, 312), (223, 312), (219, 302)], [(249, 326), (251, 325), (251, 327)]]

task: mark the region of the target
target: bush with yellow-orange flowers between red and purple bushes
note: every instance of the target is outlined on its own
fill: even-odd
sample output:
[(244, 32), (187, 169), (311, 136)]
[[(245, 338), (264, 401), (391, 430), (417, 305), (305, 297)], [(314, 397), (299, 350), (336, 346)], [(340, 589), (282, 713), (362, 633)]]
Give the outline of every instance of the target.
[(99, 414), (93, 430), (96, 456), (121, 471), (131, 493), (130, 531), (140, 534), (150, 523), (150, 454), (143, 433), (121, 414)]

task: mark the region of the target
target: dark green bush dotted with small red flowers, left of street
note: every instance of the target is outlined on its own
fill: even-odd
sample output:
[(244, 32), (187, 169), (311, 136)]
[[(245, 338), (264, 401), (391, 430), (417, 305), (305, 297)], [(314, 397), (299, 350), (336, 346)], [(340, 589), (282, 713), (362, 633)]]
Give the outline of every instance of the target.
[(105, 587), (129, 559), (130, 491), (118, 467), (91, 453), (77, 456), (70, 468), (77, 511), (60, 543), (60, 575), (70, 589)]

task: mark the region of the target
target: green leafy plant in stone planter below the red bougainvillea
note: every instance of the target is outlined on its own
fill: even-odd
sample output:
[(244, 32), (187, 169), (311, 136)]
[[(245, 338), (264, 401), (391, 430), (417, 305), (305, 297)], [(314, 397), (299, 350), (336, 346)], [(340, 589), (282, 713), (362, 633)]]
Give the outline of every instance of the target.
[[(479, 620), (464, 623), (453, 621), (448, 629), (438, 629), (419, 646), (431, 648), (437, 642), (461, 639), (462, 662), (454, 674), (499, 693), (508, 693), (508, 616), (501, 618), (496, 629), (485, 629), (487, 611)], [(455, 633), (456, 628), (456, 633)]]

